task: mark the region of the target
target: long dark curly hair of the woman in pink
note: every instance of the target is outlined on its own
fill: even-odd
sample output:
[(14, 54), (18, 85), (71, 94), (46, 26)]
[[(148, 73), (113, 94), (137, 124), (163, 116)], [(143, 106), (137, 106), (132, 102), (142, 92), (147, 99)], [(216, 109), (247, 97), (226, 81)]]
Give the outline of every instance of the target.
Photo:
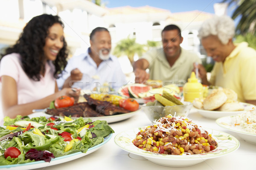
[[(42, 14), (33, 17), (24, 27), (16, 44), (6, 49), (1, 59), (11, 53), (18, 53), (21, 56), (23, 70), (28, 77), (35, 81), (40, 81), (40, 71), (44, 67), (44, 45), (45, 39), (49, 33), (48, 29), (53, 24), (59, 23), (64, 28), (60, 17), (49, 14)], [(63, 40), (64, 45), (59, 51), (55, 61), (54, 77), (57, 79), (67, 65), (67, 42)]]

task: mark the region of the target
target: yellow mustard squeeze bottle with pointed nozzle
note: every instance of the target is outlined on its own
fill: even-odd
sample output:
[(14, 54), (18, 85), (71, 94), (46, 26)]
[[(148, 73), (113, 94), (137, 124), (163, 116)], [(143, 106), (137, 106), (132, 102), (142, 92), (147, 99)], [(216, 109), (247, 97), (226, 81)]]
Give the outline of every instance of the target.
[(195, 72), (192, 72), (188, 82), (186, 82), (183, 87), (184, 101), (193, 102), (195, 98), (201, 98), (203, 95), (203, 85), (198, 82), (198, 79), (195, 77)]

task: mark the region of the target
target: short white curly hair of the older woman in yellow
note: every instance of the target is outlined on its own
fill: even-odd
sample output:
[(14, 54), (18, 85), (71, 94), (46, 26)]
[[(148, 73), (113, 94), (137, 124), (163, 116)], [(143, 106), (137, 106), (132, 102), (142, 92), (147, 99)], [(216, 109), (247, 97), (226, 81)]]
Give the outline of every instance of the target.
[(204, 21), (198, 31), (198, 37), (202, 39), (209, 35), (217, 35), (222, 44), (227, 44), (230, 38), (232, 39), (235, 36), (234, 21), (226, 15), (215, 15)]

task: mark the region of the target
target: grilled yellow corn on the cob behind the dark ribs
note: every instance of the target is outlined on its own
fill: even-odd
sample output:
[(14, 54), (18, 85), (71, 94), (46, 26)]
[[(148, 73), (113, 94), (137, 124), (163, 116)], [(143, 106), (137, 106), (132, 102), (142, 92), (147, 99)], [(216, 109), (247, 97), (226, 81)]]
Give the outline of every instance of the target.
[(117, 96), (114, 94), (90, 94), (90, 97), (99, 101), (107, 101), (118, 106), (119, 100), (124, 99), (122, 96)]

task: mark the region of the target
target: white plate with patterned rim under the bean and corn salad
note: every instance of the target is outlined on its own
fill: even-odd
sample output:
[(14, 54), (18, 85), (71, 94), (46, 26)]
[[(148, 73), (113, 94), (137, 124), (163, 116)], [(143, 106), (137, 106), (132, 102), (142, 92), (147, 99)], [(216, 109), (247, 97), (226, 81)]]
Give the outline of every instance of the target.
[(121, 147), (123, 150), (134, 153), (139, 156), (143, 156), (149, 161), (167, 166), (167, 167), (188, 167), (195, 164), (198, 164), (207, 159), (217, 158), (219, 156), (224, 156), (228, 153), (231, 153), (239, 148), (239, 141), (224, 132), (206, 129), (209, 134), (212, 134), (212, 137), (218, 142), (218, 147), (215, 150), (212, 150), (208, 153), (195, 154), (195, 155), (166, 155), (166, 154), (157, 154), (149, 151), (142, 150), (136, 147), (132, 140), (136, 137), (137, 133), (140, 131), (139, 127), (133, 130), (127, 130), (121, 132), (115, 136), (115, 143)]

